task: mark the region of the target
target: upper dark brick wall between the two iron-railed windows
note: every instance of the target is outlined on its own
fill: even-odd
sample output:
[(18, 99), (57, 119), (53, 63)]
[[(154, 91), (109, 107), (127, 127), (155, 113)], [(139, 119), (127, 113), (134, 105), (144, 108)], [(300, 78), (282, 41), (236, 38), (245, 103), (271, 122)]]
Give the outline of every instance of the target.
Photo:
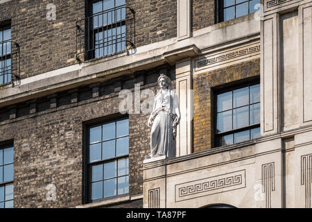
[[(46, 19), (48, 3), (56, 6), (56, 20)], [(84, 1), (9, 1), (2, 10), (1, 20), (11, 17), (12, 40), (21, 47), (22, 78), (76, 63), (75, 24), (85, 15)]]

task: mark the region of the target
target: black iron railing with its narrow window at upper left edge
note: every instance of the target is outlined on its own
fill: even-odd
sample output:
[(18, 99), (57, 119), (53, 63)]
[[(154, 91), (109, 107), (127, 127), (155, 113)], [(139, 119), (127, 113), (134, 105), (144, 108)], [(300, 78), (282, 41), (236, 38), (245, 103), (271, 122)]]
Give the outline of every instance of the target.
[(0, 28), (0, 85), (19, 78), (19, 44), (11, 40), (11, 28)]

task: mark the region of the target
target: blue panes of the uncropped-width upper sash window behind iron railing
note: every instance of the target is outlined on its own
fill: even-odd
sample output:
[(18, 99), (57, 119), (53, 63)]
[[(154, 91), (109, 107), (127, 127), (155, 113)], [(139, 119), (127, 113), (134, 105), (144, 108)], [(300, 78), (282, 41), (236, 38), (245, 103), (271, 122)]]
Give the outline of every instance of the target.
[(92, 1), (92, 58), (125, 51), (125, 14), (125, 0)]

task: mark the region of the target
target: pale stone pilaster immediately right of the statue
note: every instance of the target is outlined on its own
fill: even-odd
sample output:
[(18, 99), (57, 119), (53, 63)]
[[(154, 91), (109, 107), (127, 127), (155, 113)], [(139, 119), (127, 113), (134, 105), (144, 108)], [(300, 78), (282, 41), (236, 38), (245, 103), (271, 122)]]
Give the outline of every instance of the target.
[(176, 90), (179, 98), (181, 120), (177, 127), (176, 156), (188, 155), (193, 144), (193, 74), (192, 60), (177, 62), (175, 65)]

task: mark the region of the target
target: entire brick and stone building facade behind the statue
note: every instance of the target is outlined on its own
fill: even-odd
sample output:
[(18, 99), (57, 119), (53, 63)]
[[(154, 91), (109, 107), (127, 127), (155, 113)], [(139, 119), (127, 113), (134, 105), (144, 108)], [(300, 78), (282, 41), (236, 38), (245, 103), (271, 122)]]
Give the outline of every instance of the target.
[[(311, 207), (304, 193), (311, 186), (295, 176), (311, 168), (311, 1), (241, 2), (0, 0), (0, 207)], [(292, 62), (293, 53), (302, 56)], [(176, 89), (182, 121), (177, 157), (150, 161), (144, 92), (157, 92), (161, 72)], [(251, 99), (254, 86), (259, 101)], [(245, 88), (248, 104), (233, 102), (225, 129), (219, 115), (229, 111), (218, 98)], [(130, 103), (121, 113), (123, 92)], [(242, 114), (234, 123), (244, 106), (247, 125)], [(115, 154), (105, 159), (110, 123)], [(98, 126), (101, 139), (93, 141)], [(128, 153), (118, 156), (123, 138)], [(92, 162), (96, 144), (101, 160)], [(105, 166), (123, 160), (123, 174), (115, 167), (105, 176)], [(220, 186), (210, 189), (209, 178)], [(253, 198), (254, 186), (272, 181)]]

